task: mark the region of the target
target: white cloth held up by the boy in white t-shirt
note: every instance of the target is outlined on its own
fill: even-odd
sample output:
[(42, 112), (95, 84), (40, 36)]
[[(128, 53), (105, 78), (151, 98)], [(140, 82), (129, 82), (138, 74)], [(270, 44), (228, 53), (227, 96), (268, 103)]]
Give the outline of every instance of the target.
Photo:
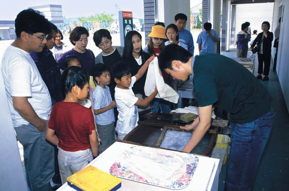
[(177, 103), (178, 94), (168, 84), (165, 84), (162, 72), (159, 68), (158, 58), (149, 64), (145, 79), (145, 95), (149, 96), (153, 93), (155, 86), (158, 89), (157, 98), (162, 98), (173, 103)]

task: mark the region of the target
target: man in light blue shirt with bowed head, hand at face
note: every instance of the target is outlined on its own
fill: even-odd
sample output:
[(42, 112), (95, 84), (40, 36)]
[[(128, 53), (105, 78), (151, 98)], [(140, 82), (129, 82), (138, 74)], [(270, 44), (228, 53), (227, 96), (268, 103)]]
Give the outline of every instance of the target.
[(203, 27), (204, 30), (202, 30), (197, 39), (200, 54), (216, 53), (215, 43), (219, 42), (219, 35), (217, 31), (212, 29), (212, 24), (205, 23)]

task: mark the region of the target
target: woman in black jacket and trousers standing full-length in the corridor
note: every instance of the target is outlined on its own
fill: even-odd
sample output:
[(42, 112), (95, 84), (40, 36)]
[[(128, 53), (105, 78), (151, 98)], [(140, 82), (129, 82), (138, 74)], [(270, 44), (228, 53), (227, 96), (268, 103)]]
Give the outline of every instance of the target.
[[(263, 78), (262, 80), (269, 80), (269, 71), (270, 71), (270, 63), (271, 63), (271, 47), (272, 47), (272, 41), (273, 41), (273, 33), (269, 31), (270, 24), (267, 21), (264, 21), (262, 23), (262, 31), (258, 34), (256, 39), (254, 40), (251, 50), (256, 46), (259, 47), (258, 49), (258, 75), (257, 79)], [(263, 62), (264, 62), (264, 71), (263, 71)]]

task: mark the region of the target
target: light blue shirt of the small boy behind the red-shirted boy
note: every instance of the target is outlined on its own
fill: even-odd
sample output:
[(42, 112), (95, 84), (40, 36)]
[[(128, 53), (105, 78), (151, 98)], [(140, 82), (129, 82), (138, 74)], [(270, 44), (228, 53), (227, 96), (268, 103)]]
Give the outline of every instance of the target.
[[(105, 86), (103, 89), (100, 86), (95, 86), (95, 90), (92, 94), (93, 109), (100, 109), (109, 106), (113, 99), (110, 92), (110, 88)], [(115, 121), (114, 109), (110, 109), (102, 114), (95, 115), (95, 122), (100, 125), (108, 125)]]

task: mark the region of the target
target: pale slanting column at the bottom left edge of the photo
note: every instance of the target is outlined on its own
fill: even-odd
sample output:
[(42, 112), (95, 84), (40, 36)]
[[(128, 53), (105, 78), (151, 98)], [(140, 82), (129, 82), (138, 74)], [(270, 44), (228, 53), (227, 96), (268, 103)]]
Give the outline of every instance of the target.
[(27, 183), (1, 72), (0, 100), (0, 191), (27, 191)]

